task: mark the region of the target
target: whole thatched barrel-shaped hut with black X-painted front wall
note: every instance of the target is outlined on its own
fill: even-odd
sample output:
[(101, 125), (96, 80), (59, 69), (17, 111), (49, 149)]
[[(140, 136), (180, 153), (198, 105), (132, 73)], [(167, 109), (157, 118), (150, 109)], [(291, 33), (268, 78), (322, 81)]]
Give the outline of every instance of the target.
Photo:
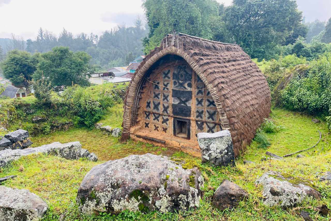
[(236, 44), (168, 35), (132, 77), (123, 133), (134, 140), (200, 155), (198, 132), (231, 132), (235, 155), (270, 113), (270, 90)]

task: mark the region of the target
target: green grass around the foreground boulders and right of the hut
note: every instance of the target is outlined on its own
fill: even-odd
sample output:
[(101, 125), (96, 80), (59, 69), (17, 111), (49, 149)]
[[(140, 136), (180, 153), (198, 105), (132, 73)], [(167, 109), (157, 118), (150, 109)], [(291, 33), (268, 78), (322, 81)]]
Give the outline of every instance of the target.
[[(108, 115), (101, 122), (112, 127), (119, 127), (121, 117), (114, 111), (122, 110), (121, 105), (108, 110)], [(66, 132), (55, 132), (50, 135), (33, 137), (33, 146), (51, 143), (53, 141), (80, 141), (83, 148), (95, 152), (100, 161), (94, 163), (81, 160), (65, 160), (55, 156), (34, 155), (15, 161), (12, 166), (0, 169), (0, 177), (17, 175), (18, 177), (6, 181), (4, 185), (16, 188), (26, 188), (45, 199), (50, 205), (45, 221), (58, 220), (64, 214), (64, 220), (303, 220), (300, 216), (302, 209), (309, 211), (314, 220), (327, 220), (321, 217), (317, 206), (326, 204), (331, 208), (331, 185), (319, 182), (318, 176), (322, 172), (331, 170), (331, 135), (328, 134), (325, 123), (314, 124), (311, 116), (292, 111), (275, 109), (271, 114), (277, 125), (285, 128), (276, 133), (267, 134), (271, 146), (268, 151), (283, 155), (299, 149), (304, 149), (316, 143), (317, 130), (322, 132), (322, 140), (318, 146), (309, 152), (302, 153), (305, 158), (290, 157), (286, 161), (260, 162), (266, 150), (256, 149), (253, 142), (245, 154), (236, 160), (235, 167), (212, 167), (202, 164), (201, 160), (183, 152), (164, 150), (143, 142), (128, 141), (120, 144), (118, 138), (108, 136), (100, 130), (70, 129)], [(166, 151), (166, 152), (163, 152)], [(198, 166), (205, 178), (204, 196), (201, 206), (190, 211), (179, 213), (150, 212), (148, 214), (124, 211), (118, 216), (99, 214), (83, 216), (77, 212), (75, 197), (77, 188), (84, 175), (95, 165), (107, 160), (118, 159), (130, 154), (156, 153), (171, 155), (177, 161), (184, 161), (183, 167)], [(244, 165), (244, 159), (255, 161), (257, 164)], [(275, 170), (298, 177), (321, 192), (320, 200), (307, 198), (306, 201), (294, 208), (283, 209), (279, 206), (267, 207), (262, 204), (261, 186), (254, 184), (255, 180), (264, 172)], [(238, 184), (245, 189), (249, 197), (240, 202), (233, 211), (219, 211), (211, 206), (211, 198), (223, 179)]]

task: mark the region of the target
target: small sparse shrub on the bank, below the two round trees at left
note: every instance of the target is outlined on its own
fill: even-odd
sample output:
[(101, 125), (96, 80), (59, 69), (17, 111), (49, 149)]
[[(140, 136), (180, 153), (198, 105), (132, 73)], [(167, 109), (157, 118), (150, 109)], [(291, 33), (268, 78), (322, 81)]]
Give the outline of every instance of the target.
[(34, 90), (34, 96), (37, 98), (38, 102), (41, 104), (51, 103), (53, 87), (46, 77), (42, 75), (40, 79), (32, 79), (29, 83)]

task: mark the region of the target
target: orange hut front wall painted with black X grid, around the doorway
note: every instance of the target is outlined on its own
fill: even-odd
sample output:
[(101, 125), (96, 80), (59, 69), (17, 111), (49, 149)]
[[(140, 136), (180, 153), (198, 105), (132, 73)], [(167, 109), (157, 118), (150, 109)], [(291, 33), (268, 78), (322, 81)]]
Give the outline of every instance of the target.
[(143, 107), (140, 111), (143, 129), (171, 136), (176, 117), (191, 120), (191, 139), (194, 140), (198, 132), (221, 130), (213, 98), (188, 64), (169, 64), (155, 69), (144, 87), (139, 103)]

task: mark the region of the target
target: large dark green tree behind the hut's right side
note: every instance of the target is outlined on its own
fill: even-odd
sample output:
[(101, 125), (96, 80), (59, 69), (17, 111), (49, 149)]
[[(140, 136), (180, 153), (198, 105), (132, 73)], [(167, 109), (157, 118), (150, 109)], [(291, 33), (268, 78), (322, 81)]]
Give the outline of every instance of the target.
[(266, 58), (301, 24), (296, 0), (233, 0), (224, 12), (227, 30), (253, 58)]

